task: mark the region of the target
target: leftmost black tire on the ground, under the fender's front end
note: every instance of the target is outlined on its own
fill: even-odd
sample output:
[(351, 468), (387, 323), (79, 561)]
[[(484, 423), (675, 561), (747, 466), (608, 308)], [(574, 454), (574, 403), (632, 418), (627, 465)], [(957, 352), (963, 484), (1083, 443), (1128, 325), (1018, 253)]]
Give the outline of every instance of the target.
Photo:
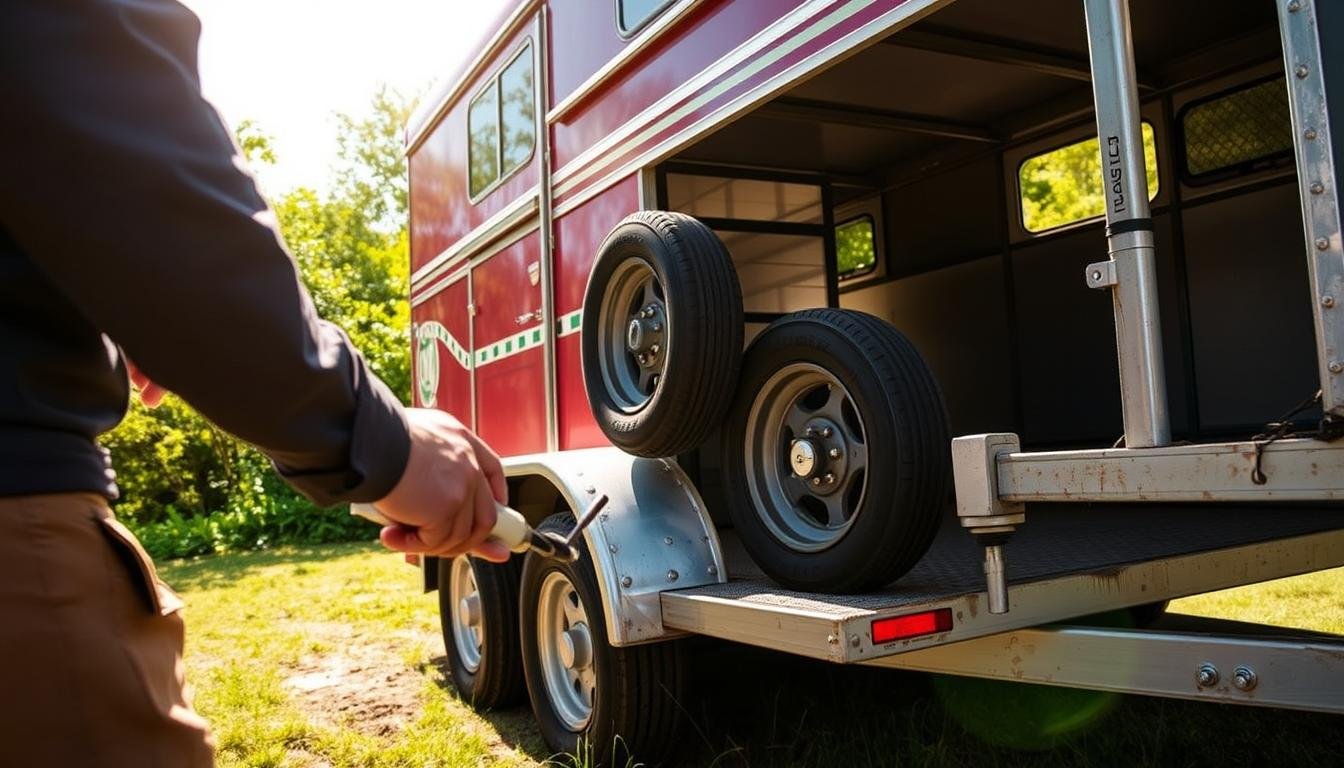
[[(453, 600), (454, 564), (468, 565), (476, 580), (482, 642), (478, 659), (460, 647), (453, 621), (460, 605)], [(462, 701), (478, 710), (499, 709), (523, 699), (523, 654), (517, 636), (517, 586), (523, 557), (495, 564), (462, 555), (438, 561), (438, 613), (448, 651), (449, 677)], [(473, 663), (474, 662), (474, 663)]]

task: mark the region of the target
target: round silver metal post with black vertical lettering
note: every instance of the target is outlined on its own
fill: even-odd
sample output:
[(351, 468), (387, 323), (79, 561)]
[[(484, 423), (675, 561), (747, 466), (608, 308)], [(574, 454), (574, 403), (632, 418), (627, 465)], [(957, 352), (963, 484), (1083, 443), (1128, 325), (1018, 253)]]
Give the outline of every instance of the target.
[(1111, 289), (1125, 445), (1152, 448), (1171, 443), (1171, 424), (1129, 3), (1083, 0), (1083, 7), (1110, 253), (1110, 261), (1087, 268), (1087, 284)]

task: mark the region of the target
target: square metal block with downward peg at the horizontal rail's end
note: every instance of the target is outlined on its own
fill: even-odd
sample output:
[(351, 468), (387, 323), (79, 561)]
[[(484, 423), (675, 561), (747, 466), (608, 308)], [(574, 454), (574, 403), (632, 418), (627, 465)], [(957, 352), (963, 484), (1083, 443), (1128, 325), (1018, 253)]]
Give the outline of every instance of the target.
[(952, 441), (957, 516), (985, 547), (985, 590), (989, 612), (1008, 612), (1008, 580), (1003, 546), (1027, 521), (1025, 504), (999, 499), (999, 456), (1021, 449), (1012, 433), (969, 434)]

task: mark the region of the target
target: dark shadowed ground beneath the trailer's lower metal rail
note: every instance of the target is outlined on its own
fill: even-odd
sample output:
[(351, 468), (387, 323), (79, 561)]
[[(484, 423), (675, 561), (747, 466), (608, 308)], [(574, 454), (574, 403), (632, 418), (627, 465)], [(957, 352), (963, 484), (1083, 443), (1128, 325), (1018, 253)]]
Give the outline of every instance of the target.
[(1333, 716), (843, 667), (696, 643), (683, 755), (714, 768), (1340, 765)]

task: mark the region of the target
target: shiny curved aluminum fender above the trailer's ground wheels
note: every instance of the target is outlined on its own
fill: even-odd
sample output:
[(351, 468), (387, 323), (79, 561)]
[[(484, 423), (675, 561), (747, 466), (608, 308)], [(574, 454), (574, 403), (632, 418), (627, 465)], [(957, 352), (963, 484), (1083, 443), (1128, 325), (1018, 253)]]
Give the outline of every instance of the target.
[(704, 500), (671, 460), (589, 448), (504, 459), (504, 471), (509, 477), (544, 477), (575, 514), (606, 494), (606, 510), (583, 531), (583, 541), (613, 646), (683, 635), (663, 625), (659, 594), (727, 581)]

